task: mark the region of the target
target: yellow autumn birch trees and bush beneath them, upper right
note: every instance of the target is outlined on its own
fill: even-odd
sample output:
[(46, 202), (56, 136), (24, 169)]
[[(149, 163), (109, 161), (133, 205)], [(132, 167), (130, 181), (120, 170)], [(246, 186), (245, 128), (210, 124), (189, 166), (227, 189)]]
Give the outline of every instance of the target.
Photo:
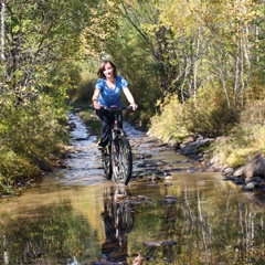
[[(151, 119), (153, 134), (163, 140), (188, 134), (229, 135), (247, 102), (255, 105), (264, 97), (263, 6), (251, 0), (123, 2), (124, 18), (161, 66), (157, 68), (160, 88), (172, 95), (156, 100), (160, 108)], [(247, 134), (252, 136), (239, 150), (244, 158), (253, 145), (253, 131)]]

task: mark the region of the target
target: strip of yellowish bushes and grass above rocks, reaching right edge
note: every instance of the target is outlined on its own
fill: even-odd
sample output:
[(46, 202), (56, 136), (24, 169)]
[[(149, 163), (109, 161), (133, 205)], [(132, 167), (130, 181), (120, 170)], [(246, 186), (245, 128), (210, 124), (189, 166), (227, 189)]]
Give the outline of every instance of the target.
[[(221, 100), (219, 99), (219, 103)], [(230, 112), (222, 104), (200, 98), (180, 104), (170, 97), (151, 120), (150, 131), (167, 142), (169, 137), (182, 141), (191, 135), (214, 137), (211, 156), (231, 167), (244, 165), (257, 153), (265, 153), (265, 100), (248, 103), (241, 112)]]

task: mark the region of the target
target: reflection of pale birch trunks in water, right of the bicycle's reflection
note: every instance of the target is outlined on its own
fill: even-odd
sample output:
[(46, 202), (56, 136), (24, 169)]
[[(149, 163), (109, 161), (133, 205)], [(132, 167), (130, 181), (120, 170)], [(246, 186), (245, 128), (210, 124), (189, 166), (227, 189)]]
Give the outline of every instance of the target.
[(162, 199), (136, 205), (141, 222), (134, 234), (137, 230), (148, 264), (263, 264), (264, 210), (234, 188), (194, 188), (184, 183), (177, 194), (165, 189)]

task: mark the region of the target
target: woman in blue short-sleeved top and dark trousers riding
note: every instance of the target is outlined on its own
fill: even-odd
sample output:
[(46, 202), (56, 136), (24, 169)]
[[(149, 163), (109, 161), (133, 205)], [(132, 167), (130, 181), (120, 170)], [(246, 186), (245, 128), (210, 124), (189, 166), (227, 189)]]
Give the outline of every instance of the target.
[[(97, 116), (102, 120), (100, 141), (98, 149), (104, 149), (108, 144), (108, 135), (110, 125), (114, 123), (113, 115), (102, 108), (102, 106), (121, 107), (121, 91), (134, 110), (137, 109), (134, 96), (128, 88), (128, 82), (120, 75), (117, 75), (116, 65), (109, 61), (104, 60), (97, 72), (99, 80), (96, 83), (94, 95), (92, 97), (93, 105), (96, 109)], [(120, 114), (119, 125), (123, 126), (123, 116)]]

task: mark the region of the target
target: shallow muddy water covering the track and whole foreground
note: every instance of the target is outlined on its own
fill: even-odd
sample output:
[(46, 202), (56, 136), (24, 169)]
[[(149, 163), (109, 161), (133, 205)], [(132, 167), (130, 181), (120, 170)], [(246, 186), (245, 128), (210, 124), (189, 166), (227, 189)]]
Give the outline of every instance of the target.
[(126, 125), (128, 188), (103, 178), (96, 137), (71, 115), (67, 169), (4, 198), (0, 264), (264, 264), (264, 200)]

